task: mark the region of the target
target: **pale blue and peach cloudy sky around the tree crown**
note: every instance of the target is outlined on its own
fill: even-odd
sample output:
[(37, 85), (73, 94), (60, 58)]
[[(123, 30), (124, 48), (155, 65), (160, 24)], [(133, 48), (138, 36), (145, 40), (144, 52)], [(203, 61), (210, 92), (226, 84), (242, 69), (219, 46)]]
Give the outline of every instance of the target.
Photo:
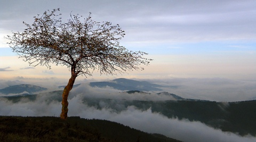
[[(88, 78), (229, 78), (256, 81), (256, 1), (33, 1), (0, 2), (0, 78), (63, 78), (68, 68), (30, 67), (12, 53), (4, 36), (23, 31), (33, 16), (60, 8), (69, 14), (92, 12), (95, 21), (119, 24), (121, 45), (148, 52), (141, 72)], [(84, 78), (79, 77), (79, 78)]]

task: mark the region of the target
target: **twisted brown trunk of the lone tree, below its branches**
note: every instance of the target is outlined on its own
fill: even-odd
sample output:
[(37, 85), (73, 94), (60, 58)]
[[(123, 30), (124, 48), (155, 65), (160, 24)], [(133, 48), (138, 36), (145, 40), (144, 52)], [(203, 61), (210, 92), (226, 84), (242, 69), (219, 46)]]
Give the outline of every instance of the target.
[(71, 74), (71, 78), (68, 81), (68, 85), (64, 88), (62, 93), (62, 109), (60, 114), (60, 119), (67, 120), (68, 118), (68, 94), (69, 91), (72, 90), (73, 85), (75, 83), (76, 75)]

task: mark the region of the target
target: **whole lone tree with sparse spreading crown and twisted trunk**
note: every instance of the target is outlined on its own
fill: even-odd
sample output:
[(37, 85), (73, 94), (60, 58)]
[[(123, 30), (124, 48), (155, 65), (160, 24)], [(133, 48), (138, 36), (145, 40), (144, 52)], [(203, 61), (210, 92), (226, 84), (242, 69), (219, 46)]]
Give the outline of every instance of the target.
[(119, 45), (125, 33), (119, 25), (110, 22), (95, 22), (88, 17), (71, 15), (62, 22), (56, 14), (60, 8), (45, 11), (34, 16), (34, 23), (27, 24), (23, 32), (12, 32), (5, 37), (13, 52), (28, 61), (31, 66), (51, 64), (67, 66), (71, 77), (62, 93), (61, 119), (68, 117), (68, 94), (78, 75), (92, 76), (96, 69), (100, 74), (114, 75), (131, 70), (143, 70), (141, 64), (148, 65), (152, 59), (143, 58), (146, 52), (129, 51)]

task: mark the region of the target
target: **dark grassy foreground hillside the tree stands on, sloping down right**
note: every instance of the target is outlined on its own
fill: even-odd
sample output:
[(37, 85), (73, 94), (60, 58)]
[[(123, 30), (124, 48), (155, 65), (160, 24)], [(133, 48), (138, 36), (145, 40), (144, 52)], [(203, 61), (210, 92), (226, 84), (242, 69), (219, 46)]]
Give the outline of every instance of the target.
[(69, 117), (0, 117), (0, 141), (178, 141), (116, 122)]

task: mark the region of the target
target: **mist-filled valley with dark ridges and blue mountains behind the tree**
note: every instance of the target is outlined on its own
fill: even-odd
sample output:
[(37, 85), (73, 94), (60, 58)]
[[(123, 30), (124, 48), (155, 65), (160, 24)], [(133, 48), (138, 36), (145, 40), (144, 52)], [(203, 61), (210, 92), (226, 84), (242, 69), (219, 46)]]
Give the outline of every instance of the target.
[[(68, 115), (110, 120), (182, 141), (255, 140), (255, 100), (217, 102), (171, 93), (182, 89), (180, 84), (125, 78), (77, 84), (68, 97)], [(1, 116), (59, 117), (63, 86), (55, 91), (21, 86), (7, 87), (16, 87), (17, 94), (1, 95)], [(38, 87), (41, 92), (31, 92)]]

